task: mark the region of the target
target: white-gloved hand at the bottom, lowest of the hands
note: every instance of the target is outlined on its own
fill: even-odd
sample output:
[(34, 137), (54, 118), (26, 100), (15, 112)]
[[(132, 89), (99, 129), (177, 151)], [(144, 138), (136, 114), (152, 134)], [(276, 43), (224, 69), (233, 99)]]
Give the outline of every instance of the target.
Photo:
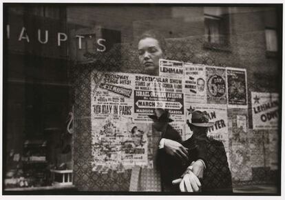
[(191, 170), (187, 170), (187, 173), (182, 175), (182, 179), (176, 179), (172, 183), (180, 183), (179, 188), (181, 192), (199, 192), (201, 187), (198, 177)]

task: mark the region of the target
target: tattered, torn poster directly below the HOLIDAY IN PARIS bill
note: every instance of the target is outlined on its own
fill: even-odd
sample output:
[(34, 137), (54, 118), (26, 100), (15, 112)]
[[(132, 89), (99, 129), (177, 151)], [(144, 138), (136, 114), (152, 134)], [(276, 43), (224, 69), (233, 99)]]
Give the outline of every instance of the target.
[(122, 172), (132, 166), (147, 166), (148, 135), (151, 124), (134, 123), (110, 115), (103, 123), (92, 124), (92, 171)]

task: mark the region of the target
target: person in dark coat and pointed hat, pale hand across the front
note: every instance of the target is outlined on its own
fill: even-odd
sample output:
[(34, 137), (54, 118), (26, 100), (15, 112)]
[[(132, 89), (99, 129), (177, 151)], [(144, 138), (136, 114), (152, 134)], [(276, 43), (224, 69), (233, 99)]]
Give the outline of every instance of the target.
[(206, 168), (206, 149), (200, 141), (196, 143), (193, 138), (182, 141), (180, 134), (169, 123), (170, 114), (167, 110), (156, 109), (154, 114), (149, 115), (154, 121), (154, 129), (161, 132), (161, 140), (156, 163), (161, 174), (162, 191), (180, 191), (179, 187), (173, 185), (173, 179), (181, 177), (187, 167), (191, 167), (191, 174), (188, 173), (187, 188), (189, 191), (198, 192), (204, 168)]

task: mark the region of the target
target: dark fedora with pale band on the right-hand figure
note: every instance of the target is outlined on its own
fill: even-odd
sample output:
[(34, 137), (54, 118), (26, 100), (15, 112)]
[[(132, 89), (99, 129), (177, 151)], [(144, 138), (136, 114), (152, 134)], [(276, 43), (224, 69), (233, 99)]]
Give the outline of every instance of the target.
[(194, 126), (200, 127), (211, 127), (214, 126), (215, 123), (209, 122), (209, 116), (206, 111), (201, 112), (200, 110), (195, 110), (191, 113), (191, 120), (189, 119), (189, 123)]

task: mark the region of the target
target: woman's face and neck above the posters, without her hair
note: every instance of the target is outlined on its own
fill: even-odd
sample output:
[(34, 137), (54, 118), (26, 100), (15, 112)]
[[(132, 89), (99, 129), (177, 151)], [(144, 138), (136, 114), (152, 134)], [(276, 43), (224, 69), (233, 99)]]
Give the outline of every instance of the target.
[(162, 54), (156, 39), (147, 37), (138, 42), (138, 59), (146, 74), (158, 75), (158, 60), (162, 58)]

